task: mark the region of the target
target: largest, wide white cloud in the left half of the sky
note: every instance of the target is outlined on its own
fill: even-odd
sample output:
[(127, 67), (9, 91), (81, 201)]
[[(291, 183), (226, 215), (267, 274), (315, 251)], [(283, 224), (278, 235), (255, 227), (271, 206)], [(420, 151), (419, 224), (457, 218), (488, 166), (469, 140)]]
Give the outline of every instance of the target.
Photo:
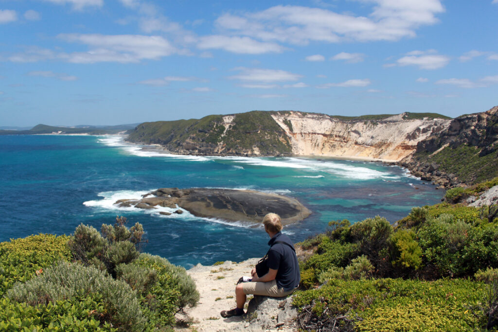
[(88, 52), (59, 55), (72, 63), (139, 62), (142, 59), (157, 60), (177, 52), (161, 36), (71, 33), (60, 34), (58, 37), (67, 42), (86, 44), (91, 48)]

